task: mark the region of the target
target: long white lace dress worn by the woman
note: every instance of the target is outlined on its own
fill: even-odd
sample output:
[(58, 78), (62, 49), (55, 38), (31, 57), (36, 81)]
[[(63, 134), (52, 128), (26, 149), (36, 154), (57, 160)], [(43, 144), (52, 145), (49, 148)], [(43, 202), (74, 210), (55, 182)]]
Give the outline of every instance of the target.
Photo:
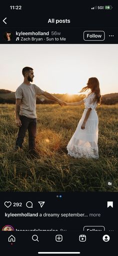
[[(72, 157), (98, 159), (98, 116), (95, 110), (97, 103), (93, 101), (94, 96), (95, 94), (92, 92), (83, 99), (85, 109), (78, 122), (76, 131), (66, 147), (68, 155)], [(81, 124), (83, 123), (87, 109), (90, 107), (91, 111), (85, 123), (85, 129), (82, 130)]]

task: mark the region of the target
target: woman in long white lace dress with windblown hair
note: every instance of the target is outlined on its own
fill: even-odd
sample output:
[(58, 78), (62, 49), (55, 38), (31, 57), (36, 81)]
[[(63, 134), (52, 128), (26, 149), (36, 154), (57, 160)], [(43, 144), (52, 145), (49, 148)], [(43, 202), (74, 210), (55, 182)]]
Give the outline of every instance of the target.
[(93, 158), (98, 159), (98, 116), (95, 110), (97, 104), (100, 104), (99, 81), (96, 77), (88, 79), (87, 86), (80, 92), (90, 89), (90, 93), (81, 101), (66, 103), (68, 106), (77, 106), (84, 104), (85, 109), (77, 128), (71, 137), (67, 151), (68, 155), (75, 158)]

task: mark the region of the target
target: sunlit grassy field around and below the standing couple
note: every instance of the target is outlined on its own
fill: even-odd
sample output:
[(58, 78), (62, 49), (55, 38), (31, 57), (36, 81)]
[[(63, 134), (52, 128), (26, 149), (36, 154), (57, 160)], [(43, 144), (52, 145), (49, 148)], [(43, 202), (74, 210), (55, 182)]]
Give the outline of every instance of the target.
[[(66, 145), (84, 106), (37, 105), (36, 147), (40, 159), (29, 160), (27, 135), (23, 151), (14, 153), (17, 135), (14, 105), (0, 104), (0, 191), (118, 191), (118, 105), (97, 107), (99, 159), (74, 159)], [(106, 180), (113, 187), (106, 186)]]

